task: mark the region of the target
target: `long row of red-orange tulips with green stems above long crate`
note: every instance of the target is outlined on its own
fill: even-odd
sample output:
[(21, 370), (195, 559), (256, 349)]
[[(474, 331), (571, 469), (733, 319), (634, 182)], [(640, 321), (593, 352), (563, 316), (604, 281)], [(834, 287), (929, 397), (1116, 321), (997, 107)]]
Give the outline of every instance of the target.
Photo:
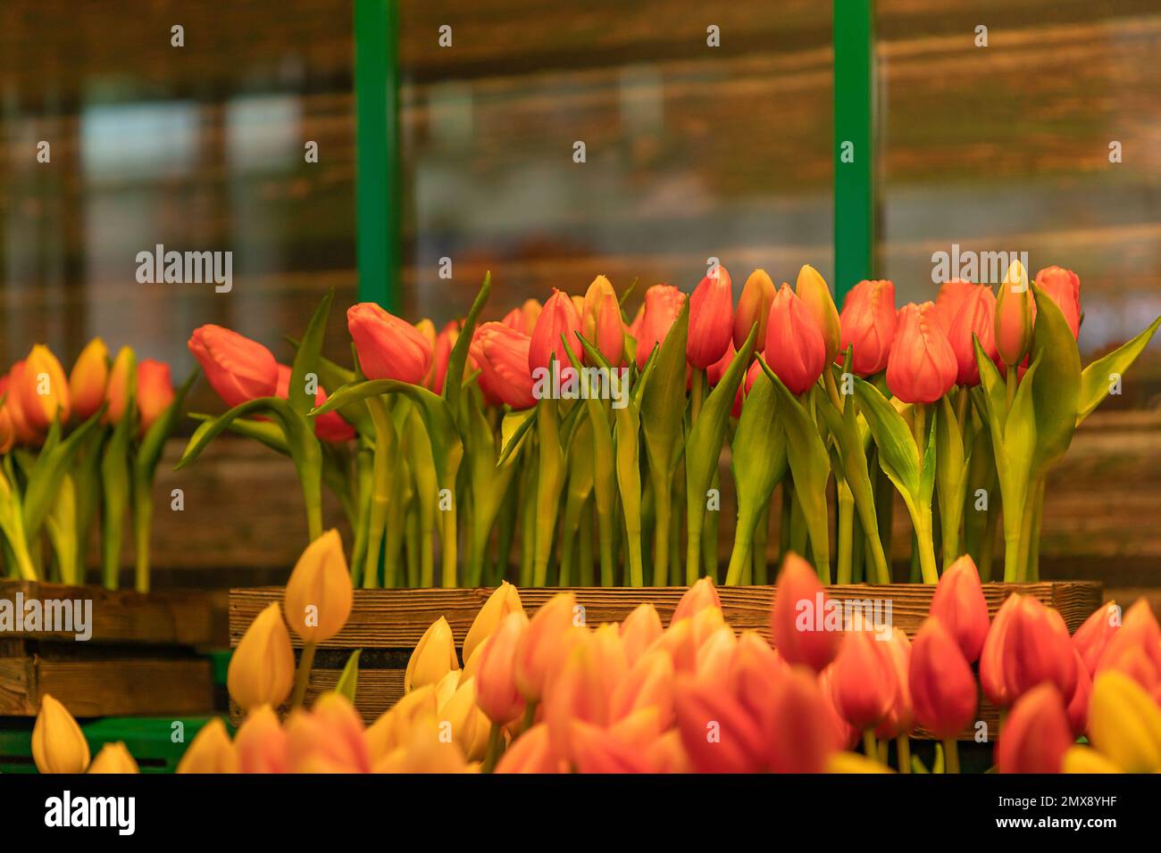
[(365, 587), (435, 585), (437, 535), (444, 586), (764, 584), (776, 489), (780, 551), (824, 583), (890, 580), (895, 492), (911, 580), (964, 554), (990, 580), (1001, 530), (1002, 578), (1034, 580), (1047, 472), (1161, 324), (1082, 369), (1079, 277), (1030, 282), (1019, 262), (998, 295), (953, 281), (896, 309), (892, 282), (864, 281), (841, 312), (810, 266), (793, 289), (755, 270), (736, 305), (714, 266), (688, 298), (650, 287), (632, 319), (605, 276), (479, 323), (489, 292), (439, 332), (352, 306), (352, 368), (319, 354), (330, 296), (293, 367), (199, 328), (190, 349), (232, 409), (199, 415), (182, 464), (226, 428), (291, 456), (311, 540), (326, 483)]

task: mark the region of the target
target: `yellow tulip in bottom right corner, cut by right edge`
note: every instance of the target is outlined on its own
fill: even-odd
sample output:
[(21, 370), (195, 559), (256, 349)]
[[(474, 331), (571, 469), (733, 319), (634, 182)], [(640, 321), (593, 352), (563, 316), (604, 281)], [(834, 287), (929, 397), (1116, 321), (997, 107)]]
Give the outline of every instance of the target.
[(1126, 773), (1161, 769), (1161, 708), (1139, 684), (1120, 672), (1093, 681), (1089, 740)]

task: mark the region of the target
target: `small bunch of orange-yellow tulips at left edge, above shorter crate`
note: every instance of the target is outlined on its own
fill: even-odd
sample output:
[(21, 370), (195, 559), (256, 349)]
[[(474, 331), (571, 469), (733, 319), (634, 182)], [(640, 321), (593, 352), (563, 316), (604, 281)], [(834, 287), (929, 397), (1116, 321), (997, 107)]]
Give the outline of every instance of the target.
[(168, 364), (138, 361), (129, 347), (110, 359), (100, 338), (67, 376), (38, 344), (0, 377), (0, 534), (8, 577), (84, 584), (100, 520), (102, 580), (116, 588), (130, 515), (135, 585), (149, 590), (153, 478), (193, 379), (175, 391)]

